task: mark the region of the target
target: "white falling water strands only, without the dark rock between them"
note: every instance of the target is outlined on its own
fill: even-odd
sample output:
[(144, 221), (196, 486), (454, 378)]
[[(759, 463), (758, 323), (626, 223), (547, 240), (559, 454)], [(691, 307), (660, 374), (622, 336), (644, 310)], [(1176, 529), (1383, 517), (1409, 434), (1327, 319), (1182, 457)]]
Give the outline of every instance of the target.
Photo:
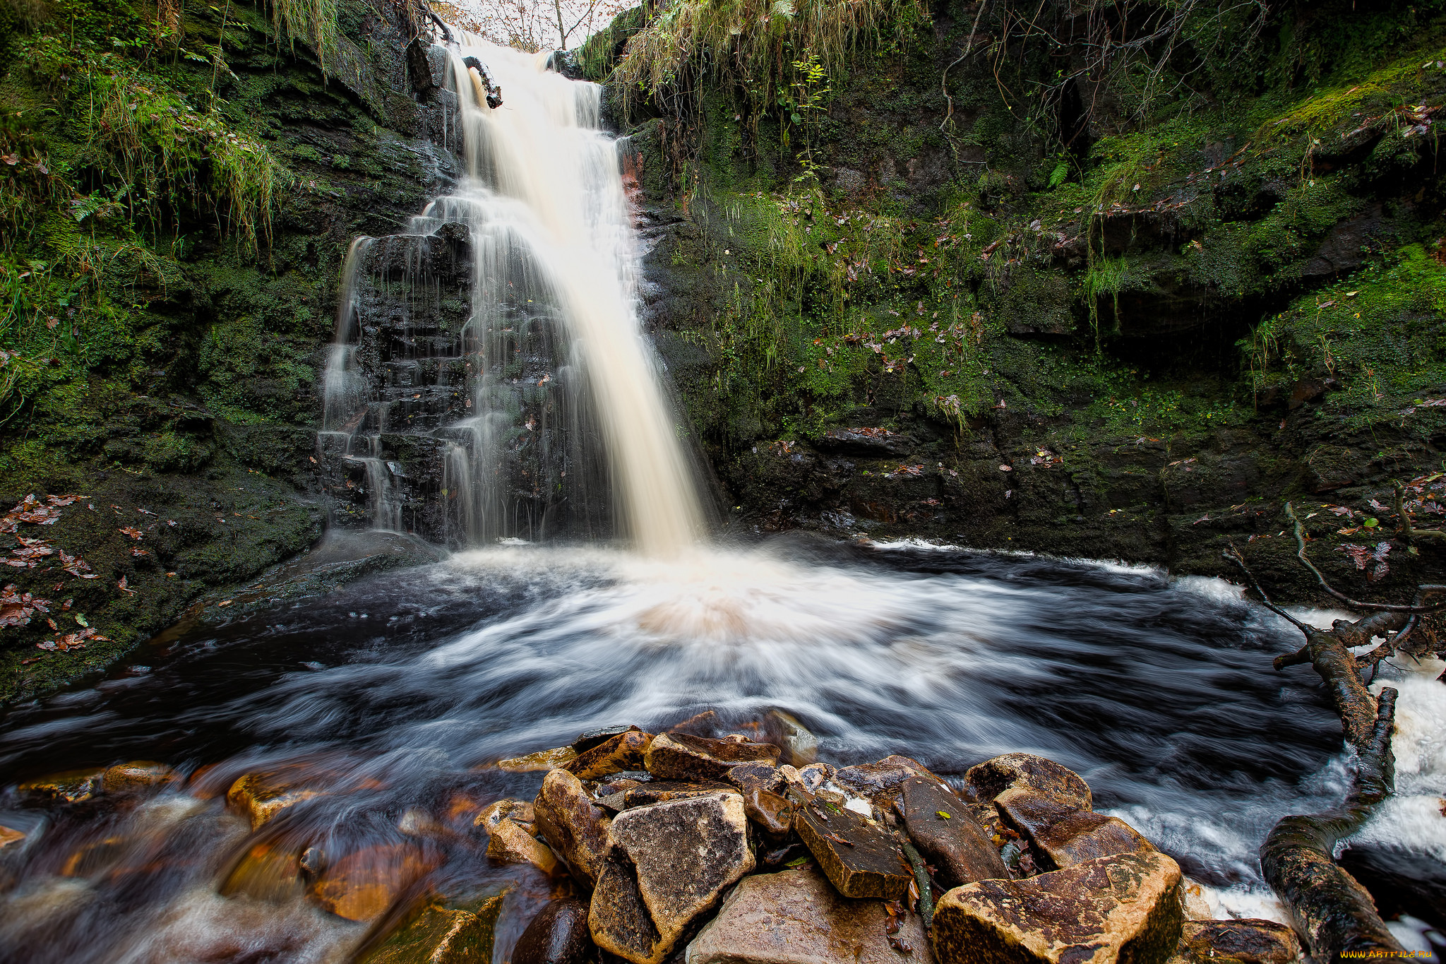
[[(636, 243), (623, 194), (617, 142), (600, 130), (602, 88), (544, 69), (544, 58), (455, 32), (447, 85), (457, 94), (466, 176), (411, 225), (416, 236), (466, 224), (473, 257), (471, 314), (463, 332), (470, 416), (451, 429), (463, 439), (447, 454), (448, 493), (471, 543), (518, 535), (506, 522), (497, 471), (509, 419), (510, 318), (525, 291), (548, 302), (565, 328), (558, 367), (574, 405), (600, 426), (620, 535), (648, 555), (675, 554), (703, 535), (703, 513), (681, 429), (659, 384), (655, 353), (638, 321)], [(476, 56), (505, 91), (497, 108), (464, 62)], [(370, 238), (353, 244), (344, 267), (337, 338), (324, 379), (324, 432), (357, 452), (366, 384), (356, 371), (357, 275)], [(542, 380), (538, 382), (542, 384)], [(571, 415), (573, 422), (581, 416)], [(531, 425), (528, 429), (531, 431)], [(576, 429), (578, 435), (584, 434)], [(464, 449), (464, 451), (463, 451)], [(383, 465), (385, 468), (385, 465)], [(369, 464), (373, 520), (393, 519), (386, 480)]]

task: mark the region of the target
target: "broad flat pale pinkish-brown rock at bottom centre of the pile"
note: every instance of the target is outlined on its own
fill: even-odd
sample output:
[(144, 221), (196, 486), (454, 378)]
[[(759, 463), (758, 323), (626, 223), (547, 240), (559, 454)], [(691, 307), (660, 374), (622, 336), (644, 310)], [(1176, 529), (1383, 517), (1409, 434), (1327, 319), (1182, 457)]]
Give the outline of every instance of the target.
[[(889, 945), (878, 900), (849, 900), (811, 867), (743, 877), (688, 945), (688, 964), (933, 964), (928, 937), (910, 913)], [(516, 963), (521, 964), (521, 963)]]

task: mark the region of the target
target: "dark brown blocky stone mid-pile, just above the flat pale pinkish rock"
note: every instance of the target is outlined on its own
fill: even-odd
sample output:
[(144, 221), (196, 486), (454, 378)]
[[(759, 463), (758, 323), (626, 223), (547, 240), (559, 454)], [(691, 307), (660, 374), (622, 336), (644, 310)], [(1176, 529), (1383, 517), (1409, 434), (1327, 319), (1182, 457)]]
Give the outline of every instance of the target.
[(846, 898), (897, 900), (914, 879), (894, 834), (853, 811), (827, 804), (798, 806), (794, 830)]

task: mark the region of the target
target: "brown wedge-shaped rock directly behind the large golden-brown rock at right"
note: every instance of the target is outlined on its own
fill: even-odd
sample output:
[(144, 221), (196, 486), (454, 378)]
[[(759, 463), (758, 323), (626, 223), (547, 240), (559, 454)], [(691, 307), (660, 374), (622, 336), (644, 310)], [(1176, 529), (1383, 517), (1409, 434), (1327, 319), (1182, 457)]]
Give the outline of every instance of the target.
[(1044, 870), (1154, 850), (1148, 840), (1118, 817), (1079, 809), (1057, 796), (1015, 786), (995, 798), (1005, 822), (1034, 844), (1044, 857)]

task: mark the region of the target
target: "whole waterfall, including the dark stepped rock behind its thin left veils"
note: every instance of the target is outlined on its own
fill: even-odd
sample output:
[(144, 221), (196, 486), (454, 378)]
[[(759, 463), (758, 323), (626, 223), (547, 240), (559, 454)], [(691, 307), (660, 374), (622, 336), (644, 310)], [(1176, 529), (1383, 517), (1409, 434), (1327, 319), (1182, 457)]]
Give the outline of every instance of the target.
[[(353, 243), (322, 447), (366, 465), (373, 526), (425, 522), (425, 483), (392, 478), (425, 457), (434, 532), (454, 543), (613, 530), (645, 554), (681, 549), (703, 533), (703, 513), (639, 325), (636, 240), (619, 146), (600, 129), (602, 88), (454, 36), (447, 88), (463, 176), (406, 233)], [(506, 92), (500, 107), (487, 104), (477, 61)], [(453, 330), (447, 286), (463, 275), (470, 305)]]

